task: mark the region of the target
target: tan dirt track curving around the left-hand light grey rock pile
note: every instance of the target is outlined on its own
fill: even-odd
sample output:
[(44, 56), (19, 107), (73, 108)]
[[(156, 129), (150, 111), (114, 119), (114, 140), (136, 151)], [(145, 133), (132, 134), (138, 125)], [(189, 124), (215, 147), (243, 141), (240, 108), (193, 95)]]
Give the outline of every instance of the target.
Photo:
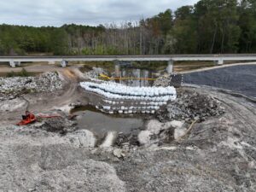
[(15, 100), (6, 101), (9, 110), (3, 112), (3, 124), (15, 124), (20, 119), (20, 115), (26, 110), (29, 101), (29, 110), (32, 113), (50, 113), (53, 110), (61, 109), (69, 112), (68, 105), (72, 102), (81, 101), (87, 104), (88, 100), (78, 89), (79, 80), (83, 79), (83, 74), (77, 68), (65, 68), (58, 71), (64, 87), (62, 90), (44, 93), (26, 94)]

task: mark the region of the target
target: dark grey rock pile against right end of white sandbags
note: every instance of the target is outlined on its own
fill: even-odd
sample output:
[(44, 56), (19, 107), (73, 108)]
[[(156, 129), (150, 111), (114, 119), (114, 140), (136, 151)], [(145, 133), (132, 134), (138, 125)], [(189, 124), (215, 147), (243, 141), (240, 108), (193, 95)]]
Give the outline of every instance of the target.
[(191, 123), (194, 120), (201, 122), (223, 113), (224, 108), (212, 96), (182, 90), (177, 95), (177, 100), (170, 102), (158, 113), (158, 118), (160, 121), (185, 120)]

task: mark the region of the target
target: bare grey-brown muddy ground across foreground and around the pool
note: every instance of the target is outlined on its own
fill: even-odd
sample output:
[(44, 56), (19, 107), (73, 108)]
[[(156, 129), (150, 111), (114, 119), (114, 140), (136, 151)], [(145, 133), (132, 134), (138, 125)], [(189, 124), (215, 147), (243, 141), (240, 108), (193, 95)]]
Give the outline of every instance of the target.
[[(149, 141), (157, 142), (128, 140), (102, 148), (90, 131), (77, 129), (76, 120), (68, 117), (70, 103), (88, 102), (77, 86), (81, 74), (67, 70), (61, 75), (65, 83), (62, 90), (24, 96), (33, 113), (61, 114), (56, 124), (43, 120), (15, 126), (26, 102), (20, 97), (5, 101), (9, 110), (1, 112), (0, 120), (0, 191), (256, 190), (253, 101), (211, 88), (184, 87), (211, 96), (221, 103), (224, 113), (195, 123), (185, 137), (176, 140), (171, 132), (172, 139), (163, 143), (161, 137), (150, 137)], [(153, 120), (159, 122), (157, 117)], [(168, 132), (169, 127), (161, 130), (167, 124), (154, 125)], [(190, 124), (184, 125), (188, 128)]]

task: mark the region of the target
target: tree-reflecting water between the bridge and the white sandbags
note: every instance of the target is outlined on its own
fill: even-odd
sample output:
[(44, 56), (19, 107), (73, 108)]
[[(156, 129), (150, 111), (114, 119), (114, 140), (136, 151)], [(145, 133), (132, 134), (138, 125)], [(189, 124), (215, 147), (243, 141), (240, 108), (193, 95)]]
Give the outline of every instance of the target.
[(142, 79), (154, 79), (157, 74), (146, 70), (146, 69), (137, 69), (137, 68), (122, 68), (121, 69), (121, 77), (123, 78), (136, 78), (136, 79), (125, 79), (125, 80), (117, 80), (117, 83), (125, 84), (128, 86), (151, 86), (154, 81), (152, 80), (142, 80)]

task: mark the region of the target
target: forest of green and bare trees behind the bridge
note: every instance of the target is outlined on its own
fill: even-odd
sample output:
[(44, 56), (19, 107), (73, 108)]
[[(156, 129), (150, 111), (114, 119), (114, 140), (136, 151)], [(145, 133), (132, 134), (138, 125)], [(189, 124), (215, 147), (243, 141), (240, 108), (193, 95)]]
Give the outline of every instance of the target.
[[(171, 6), (171, 5), (170, 5)], [(0, 55), (159, 55), (256, 52), (256, 0), (201, 0), (137, 22), (0, 25)]]

